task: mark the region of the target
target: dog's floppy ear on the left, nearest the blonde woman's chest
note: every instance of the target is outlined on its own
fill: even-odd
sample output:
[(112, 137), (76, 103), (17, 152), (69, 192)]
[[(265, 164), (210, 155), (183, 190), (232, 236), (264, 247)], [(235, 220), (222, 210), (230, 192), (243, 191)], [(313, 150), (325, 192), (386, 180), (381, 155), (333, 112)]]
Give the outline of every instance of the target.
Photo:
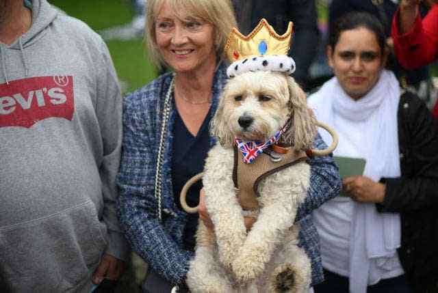
[(219, 99), (218, 109), (210, 122), (210, 134), (218, 139), (220, 145), (224, 148), (231, 148), (233, 146), (234, 137), (231, 135), (229, 127), (227, 126), (227, 117), (224, 117), (224, 107), (226, 102), (227, 86)]

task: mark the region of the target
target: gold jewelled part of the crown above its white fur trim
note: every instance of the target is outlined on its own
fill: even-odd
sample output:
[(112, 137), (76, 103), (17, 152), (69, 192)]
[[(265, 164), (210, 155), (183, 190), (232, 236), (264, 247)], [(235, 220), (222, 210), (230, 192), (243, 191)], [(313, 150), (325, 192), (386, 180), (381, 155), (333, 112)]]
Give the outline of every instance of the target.
[(287, 31), (279, 36), (265, 18), (248, 36), (242, 35), (235, 27), (231, 31), (225, 53), (230, 63), (250, 56), (287, 55), (290, 47), (293, 24), (289, 21)]

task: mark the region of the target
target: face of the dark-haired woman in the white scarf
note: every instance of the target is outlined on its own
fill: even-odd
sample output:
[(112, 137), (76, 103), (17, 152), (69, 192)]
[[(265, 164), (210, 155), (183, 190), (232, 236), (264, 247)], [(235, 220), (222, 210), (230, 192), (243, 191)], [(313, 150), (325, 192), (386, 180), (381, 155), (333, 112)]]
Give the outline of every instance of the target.
[(343, 31), (335, 48), (327, 48), (329, 65), (348, 96), (357, 100), (376, 85), (386, 59), (381, 51), (365, 27)]

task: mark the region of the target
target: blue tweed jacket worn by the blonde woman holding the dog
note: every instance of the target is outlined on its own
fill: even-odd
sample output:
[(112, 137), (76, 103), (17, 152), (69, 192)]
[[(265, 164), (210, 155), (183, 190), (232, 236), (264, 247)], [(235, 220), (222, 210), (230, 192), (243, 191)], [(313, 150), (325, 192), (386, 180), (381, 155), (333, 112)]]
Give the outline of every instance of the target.
[[(225, 67), (220, 66), (214, 76), (211, 115), (214, 115), (220, 93), (227, 81)], [(154, 197), (154, 178), (162, 124), (164, 98), (171, 74), (159, 76), (148, 85), (125, 98), (123, 124), (123, 154), (118, 174), (118, 216), (127, 240), (152, 268), (172, 283), (185, 280), (188, 262), (193, 252), (182, 249), (182, 238), (187, 214), (177, 208), (171, 181), (172, 128), (175, 104), (172, 103), (164, 145), (162, 171), (162, 222), (158, 219), (159, 205)], [(211, 138), (211, 146), (215, 139)], [(318, 135), (316, 148), (326, 148)], [(304, 204), (299, 207), (296, 221), (300, 222), (300, 246), (304, 247), (312, 264), (313, 284), (323, 280), (318, 234), (311, 221), (311, 211), (324, 201), (339, 194), (341, 182), (331, 156), (310, 159), (311, 185)]]

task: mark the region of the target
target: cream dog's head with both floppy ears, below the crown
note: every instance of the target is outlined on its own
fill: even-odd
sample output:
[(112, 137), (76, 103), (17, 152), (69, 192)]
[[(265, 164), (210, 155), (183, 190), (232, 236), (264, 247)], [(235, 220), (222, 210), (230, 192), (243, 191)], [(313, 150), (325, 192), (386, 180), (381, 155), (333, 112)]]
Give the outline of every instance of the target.
[[(313, 115), (307, 111), (306, 97), (292, 77), (279, 72), (246, 72), (230, 79), (224, 88), (212, 132), (224, 146), (234, 137), (244, 141), (266, 141), (291, 124), (283, 135), (298, 148), (309, 146), (315, 135)], [(313, 125), (311, 125), (313, 124)], [(302, 132), (307, 132), (305, 137)], [(297, 134), (301, 137), (294, 137)]]

